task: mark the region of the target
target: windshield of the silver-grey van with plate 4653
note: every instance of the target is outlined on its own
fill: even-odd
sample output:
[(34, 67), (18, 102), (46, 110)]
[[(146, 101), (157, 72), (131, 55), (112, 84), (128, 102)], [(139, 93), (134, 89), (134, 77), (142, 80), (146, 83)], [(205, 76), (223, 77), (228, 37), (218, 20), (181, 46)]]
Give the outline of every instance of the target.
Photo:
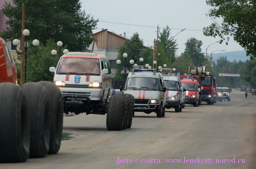
[(157, 78), (135, 77), (129, 78), (127, 81), (127, 90), (158, 90)]

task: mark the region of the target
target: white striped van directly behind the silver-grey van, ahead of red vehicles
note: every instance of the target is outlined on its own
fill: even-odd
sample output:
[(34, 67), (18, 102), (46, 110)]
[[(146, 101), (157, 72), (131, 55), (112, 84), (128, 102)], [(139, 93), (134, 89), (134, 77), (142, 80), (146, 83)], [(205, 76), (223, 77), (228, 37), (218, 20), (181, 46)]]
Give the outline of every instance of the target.
[(173, 73), (172, 68), (162, 68), (163, 80), (166, 87), (165, 100), (166, 109), (174, 108), (175, 112), (182, 111), (185, 108), (185, 91), (181, 83), (179, 73)]

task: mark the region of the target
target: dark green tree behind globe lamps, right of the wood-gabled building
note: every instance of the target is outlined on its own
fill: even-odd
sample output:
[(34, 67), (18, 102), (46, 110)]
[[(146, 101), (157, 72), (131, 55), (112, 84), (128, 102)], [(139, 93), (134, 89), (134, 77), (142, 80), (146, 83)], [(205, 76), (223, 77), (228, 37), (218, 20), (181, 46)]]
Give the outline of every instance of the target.
[[(143, 58), (143, 65), (146, 63), (150, 64), (153, 60), (153, 50), (152, 47), (144, 48), (143, 40), (139, 38), (138, 32), (134, 33), (131, 37), (131, 41), (125, 41), (125, 43), (119, 48), (117, 60), (121, 60), (121, 64), (116, 68), (115, 80), (125, 80), (127, 74), (121, 74), (120, 68), (124, 67), (124, 57), (123, 54), (127, 53), (126, 66), (131, 68), (132, 65), (129, 63), (129, 60), (134, 60), (134, 63), (140, 65), (139, 59)], [(130, 69), (129, 69), (130, 70)]]

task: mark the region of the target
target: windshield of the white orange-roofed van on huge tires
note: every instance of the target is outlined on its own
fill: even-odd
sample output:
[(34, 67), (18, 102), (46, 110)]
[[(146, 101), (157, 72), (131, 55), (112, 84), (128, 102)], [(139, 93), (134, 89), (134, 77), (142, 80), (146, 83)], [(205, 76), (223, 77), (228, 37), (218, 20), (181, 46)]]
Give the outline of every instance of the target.
[(61, 58), (56, 74), (100, 75), (99, 60)]

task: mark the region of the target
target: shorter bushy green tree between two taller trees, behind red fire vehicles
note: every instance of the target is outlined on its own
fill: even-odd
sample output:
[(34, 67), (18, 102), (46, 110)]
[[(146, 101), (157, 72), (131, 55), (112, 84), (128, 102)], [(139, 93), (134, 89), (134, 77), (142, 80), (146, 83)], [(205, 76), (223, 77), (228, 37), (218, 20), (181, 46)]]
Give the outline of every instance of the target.
[(176, 58), (172, 67), (176, 68), (176, 72), (180, 72), (180, 74), (188, 74), (188, 68), (191, 67), (193, 69), (195, 66), (189, 53), (185, 51), (180, 57)]

